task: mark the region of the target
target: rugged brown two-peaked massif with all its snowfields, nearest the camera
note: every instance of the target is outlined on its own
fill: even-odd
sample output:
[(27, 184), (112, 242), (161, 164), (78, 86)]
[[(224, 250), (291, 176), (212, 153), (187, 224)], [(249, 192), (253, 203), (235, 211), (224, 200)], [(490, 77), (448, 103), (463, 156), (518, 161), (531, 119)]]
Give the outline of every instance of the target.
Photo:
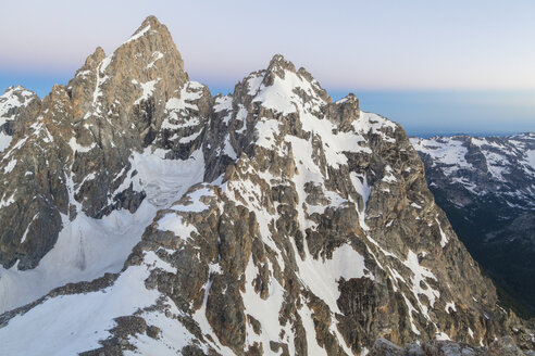
[(214, 98), (151, 16), (0, 105), (2, 355), (534, 347), (405, 130), (282, 55)]

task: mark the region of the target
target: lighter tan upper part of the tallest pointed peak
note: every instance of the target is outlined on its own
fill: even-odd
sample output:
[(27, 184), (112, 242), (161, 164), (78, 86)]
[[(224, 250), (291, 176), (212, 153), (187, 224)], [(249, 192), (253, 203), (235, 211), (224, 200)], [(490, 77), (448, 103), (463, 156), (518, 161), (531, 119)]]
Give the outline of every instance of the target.
[[(176, 96), (187, 80), (184, 62), (167, 27), (155, 16), (148, 16), (110, 55), (98, 47), (76, 72), (69, 88), (73, 92), (76, 117), (82, 118), (94, 114), (102, 116), (116, 101), (125, 106), (141, 103), (160, 90), (166, 97)], [(158, 106), (164, 104), (161, 102)]]

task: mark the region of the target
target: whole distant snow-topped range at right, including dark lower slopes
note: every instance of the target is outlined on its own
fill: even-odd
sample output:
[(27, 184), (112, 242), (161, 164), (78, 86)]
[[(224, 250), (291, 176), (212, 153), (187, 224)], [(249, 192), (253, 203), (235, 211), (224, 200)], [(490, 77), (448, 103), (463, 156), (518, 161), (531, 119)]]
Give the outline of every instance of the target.
[(411, 141), (469, 251), (535, 315), (535, 134)]

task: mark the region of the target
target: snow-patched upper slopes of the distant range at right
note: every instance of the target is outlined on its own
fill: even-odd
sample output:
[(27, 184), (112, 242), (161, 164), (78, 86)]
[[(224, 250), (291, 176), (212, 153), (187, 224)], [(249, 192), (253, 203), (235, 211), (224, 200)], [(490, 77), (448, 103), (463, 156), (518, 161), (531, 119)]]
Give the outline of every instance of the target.
[[(447, 177), (449, 185), (460, 188), (460, 193), (449, 196), (452, 204), (465, 207), (473, 196), (493, 196), (519, 211), (535, 208), (535, 134), (509, 137), (477, 138), (470, 136), (411, 138), (428, 163), (431, 186), (441, 188), (448, 183), (435, 178)], [(436, 179), (436, 181), (435, 181)], [(508, 219), (514, 211), (505, 211), (497, 217)]]

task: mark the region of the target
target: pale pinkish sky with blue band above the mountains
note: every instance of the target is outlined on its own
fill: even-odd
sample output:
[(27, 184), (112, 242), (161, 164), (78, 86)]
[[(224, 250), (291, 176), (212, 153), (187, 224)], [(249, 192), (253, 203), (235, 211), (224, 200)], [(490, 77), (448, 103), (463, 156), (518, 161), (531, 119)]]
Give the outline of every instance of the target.
[(214, 93), (282, 53), (410, 135), (535, 131), (532, 0), (1, 2), (2, 89), (45, 97), (153, 14)]

